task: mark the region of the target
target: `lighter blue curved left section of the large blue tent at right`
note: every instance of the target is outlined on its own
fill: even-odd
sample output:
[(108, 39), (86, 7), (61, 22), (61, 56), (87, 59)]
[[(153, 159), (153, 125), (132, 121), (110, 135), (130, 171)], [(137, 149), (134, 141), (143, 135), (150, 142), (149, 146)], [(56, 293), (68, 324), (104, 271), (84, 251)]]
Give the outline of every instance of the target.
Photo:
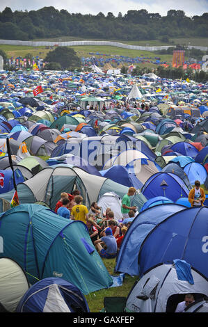
[(184, 209), (186, 207), (182, 205), (168, 203), (150, 207), (138, 214), (122, 240), (114, 271), (139, 276), (138, 253), (147, 235), (166, 218)]

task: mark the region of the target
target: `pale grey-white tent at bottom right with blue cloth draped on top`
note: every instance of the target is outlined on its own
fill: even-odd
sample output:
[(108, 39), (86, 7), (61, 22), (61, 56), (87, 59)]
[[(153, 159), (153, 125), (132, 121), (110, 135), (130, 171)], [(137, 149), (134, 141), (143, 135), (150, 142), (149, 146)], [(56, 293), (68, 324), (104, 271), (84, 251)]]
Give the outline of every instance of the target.
[[(183, 275), (180, 270), (184, 266)], [(207, 296), (208, 280), (185, 261), (173, 264), (157, 264), (135, 283), (129, 292), (127, 312), (175, 312), (177, 304), (184, 301), (185, 294), (195, 299)]]

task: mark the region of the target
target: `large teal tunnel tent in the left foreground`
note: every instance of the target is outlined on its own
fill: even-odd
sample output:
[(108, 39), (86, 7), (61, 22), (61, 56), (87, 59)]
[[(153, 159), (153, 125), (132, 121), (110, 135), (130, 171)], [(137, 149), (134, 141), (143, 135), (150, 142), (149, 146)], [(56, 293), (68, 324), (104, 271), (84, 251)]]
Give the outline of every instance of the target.
[(0, 223), (0, 257), (22, 266), (31, 284), (61, 277), (83, 294), (112, 285), (83, 222), (67, 220), (42, 205), (24, 204), (2, 213)]

